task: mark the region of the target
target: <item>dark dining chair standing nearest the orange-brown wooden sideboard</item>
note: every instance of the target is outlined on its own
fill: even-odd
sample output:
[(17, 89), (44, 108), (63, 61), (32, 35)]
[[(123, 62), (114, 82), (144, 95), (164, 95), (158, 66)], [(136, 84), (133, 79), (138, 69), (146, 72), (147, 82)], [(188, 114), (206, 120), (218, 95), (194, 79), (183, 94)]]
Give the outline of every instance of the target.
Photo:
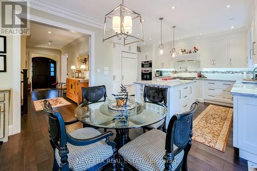
[[(97, 102), (105, 102), (107, 98), (105, 85), (93, 86), (93, 87), (82, 87), (82, 106)], [(83, 123), (83, 127), (91, 127)], [(104, 131), (106, 132), (106, 128)]]

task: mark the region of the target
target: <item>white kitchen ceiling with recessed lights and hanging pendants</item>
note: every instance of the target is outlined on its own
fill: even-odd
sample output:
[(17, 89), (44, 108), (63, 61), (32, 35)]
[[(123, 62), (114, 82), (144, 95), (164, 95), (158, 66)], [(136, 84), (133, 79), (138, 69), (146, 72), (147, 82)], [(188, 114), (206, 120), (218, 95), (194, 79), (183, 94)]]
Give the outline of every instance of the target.
[[(38, 1), (38, 0), (37, 0)], [(42, 1), (41, 1), (42, 2)], [(102, 0), (44, 0), (44, 3), (73, 11), (94, 21), (103, 23), (104, 15), (117, 7), (121, 1)], [(163, 42), (173, 39), (172, 26), (177, 26), (176, 39), (196, 36), (202, 33), (223, 32), (247, 28), (250, 24), (252, 0), (125, 0), (126, 7), (141, 13), (144, 22), (145, 44), (160, 41), (160, 22), (163, 20)], [(226, 8), (231, 5), (230, 8)], [(175, 6), (172, 10), (171, 7)], [(228, 20), (233, 17), (234, 20)], [(150, 40), (151, 39), (151, 40)]]

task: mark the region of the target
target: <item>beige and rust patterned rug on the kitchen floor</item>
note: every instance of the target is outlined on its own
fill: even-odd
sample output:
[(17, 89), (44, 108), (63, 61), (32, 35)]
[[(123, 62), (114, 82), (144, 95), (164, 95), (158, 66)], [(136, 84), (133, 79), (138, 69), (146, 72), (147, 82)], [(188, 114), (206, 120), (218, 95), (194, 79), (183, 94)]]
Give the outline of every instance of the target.
[(209, 105), (193, 121), (193, 140), (224, 153), (232, 120), (232, 108)]

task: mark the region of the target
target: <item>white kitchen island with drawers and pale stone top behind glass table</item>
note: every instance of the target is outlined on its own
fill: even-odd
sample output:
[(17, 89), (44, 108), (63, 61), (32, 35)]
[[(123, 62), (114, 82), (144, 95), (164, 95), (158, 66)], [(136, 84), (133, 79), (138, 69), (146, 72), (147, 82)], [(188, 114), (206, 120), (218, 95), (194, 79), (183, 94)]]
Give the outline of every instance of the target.
[(171, 117), (190, 109), (195, 102), (195, 81), (193, 80), (167, 80), (167, 81), (141, 81), (134, 82), (135, 97), (142, 99), (144, 86), (168, 88), (166, 129)]

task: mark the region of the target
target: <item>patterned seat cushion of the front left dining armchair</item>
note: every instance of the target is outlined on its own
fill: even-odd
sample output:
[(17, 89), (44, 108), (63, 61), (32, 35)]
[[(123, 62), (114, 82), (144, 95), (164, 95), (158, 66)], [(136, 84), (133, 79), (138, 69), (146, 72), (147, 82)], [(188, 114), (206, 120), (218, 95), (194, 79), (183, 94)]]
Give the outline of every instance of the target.
[[(77, 139), (88, 139), (101, 135), (101, 133), (90, 127), (77, 129), (69, 134)], [(105, 139), (85, 146), (75, 146), (67, 143), (69, 150), (68, 162), (72, 170), (86, 170), (113, 155), (113, 148), (105, 143)], [(61, 163), (59, 150), (55, 151), (57, 162)]]

